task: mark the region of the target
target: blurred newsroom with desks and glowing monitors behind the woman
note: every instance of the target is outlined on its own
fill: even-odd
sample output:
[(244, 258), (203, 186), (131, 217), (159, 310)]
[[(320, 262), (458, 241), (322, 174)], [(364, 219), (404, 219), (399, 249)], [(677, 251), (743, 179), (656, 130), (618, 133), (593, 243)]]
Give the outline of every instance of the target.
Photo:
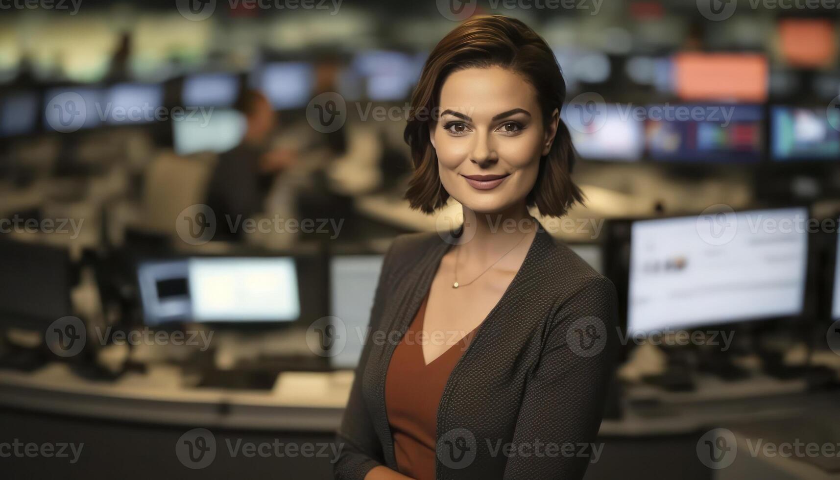
[[(26, 441), (88, 445), (76, 467), (13, 465), (197, 476), (210, 470), (186, 468), (175, 447), (195, 427), (220, 449), (328, 439), (382, 253), (396, 235), (459, 221), (457, 204), (426, 216), (402, 200), (407, 99), (459, 19), (498, 13), (543, 35), (568, 89), (587, 202), (544, 225), (612, 278), (631, 334), (601, 429), (608, 460), (591, 477), (837, 474), (825, 455), (716, 463), (729, 458), (721, 439), (840, 440), (806, 421), (837, 414), (837, 11), (5, 4), (3, 419)], [(126, 426), (137, 422), (157, 428)], [(715, 428), (731, 436), (712, 435), (722, 450), (704, 453)], [(139, 449), (155, 462), (125, 461)], [(222, 456), (208, 468), (329, 477), (323, 459)]]

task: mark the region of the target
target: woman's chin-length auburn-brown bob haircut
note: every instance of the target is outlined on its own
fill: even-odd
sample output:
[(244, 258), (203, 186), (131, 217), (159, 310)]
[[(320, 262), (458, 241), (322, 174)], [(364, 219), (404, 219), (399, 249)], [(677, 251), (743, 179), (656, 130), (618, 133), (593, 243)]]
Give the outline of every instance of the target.
[[(429, 128), (438, 121), (440, 90), (447, 76), (468, 68), (500, 66), (521, 75), (537, 91), (543, 126), (563, 107), (566, 87), (554, 53), (536, 32), (515, 18), (501, 15), (466, 20), (440, 40), (429, 54), (420, 81), (412, 94), (411, 112), (403, 138), (411, 147), (414, 171), (406, 198), (412, 208), (432, 214), (449, 199), (440, 182), (438, 156), (429, 139)], [(539, 160), (537, 181), (528, 196), (528, 207), (540, 214), (562, 217), (583, 193), (571, 181), (575, 149), (569, 129), (559, 119), (549, 155)]]

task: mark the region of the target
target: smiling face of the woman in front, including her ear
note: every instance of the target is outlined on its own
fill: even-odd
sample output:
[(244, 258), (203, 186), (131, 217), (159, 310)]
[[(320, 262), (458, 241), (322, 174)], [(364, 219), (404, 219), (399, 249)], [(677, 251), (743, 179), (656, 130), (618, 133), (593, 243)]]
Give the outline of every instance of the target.
[(557, 110), (548, 129), (541, 112), (536, 90), (515, 72), (494, 66), (450, 74), (430, 127), (449, 195), (482, 214), (524, 203), (557, 132)]

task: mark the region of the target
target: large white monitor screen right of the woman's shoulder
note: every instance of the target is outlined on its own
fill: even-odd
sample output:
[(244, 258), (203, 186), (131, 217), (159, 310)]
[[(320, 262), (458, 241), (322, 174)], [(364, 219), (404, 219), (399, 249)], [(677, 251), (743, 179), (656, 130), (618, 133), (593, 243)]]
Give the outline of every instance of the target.
[(633, 222), (628, 333), (801, 314), (806, 208)]

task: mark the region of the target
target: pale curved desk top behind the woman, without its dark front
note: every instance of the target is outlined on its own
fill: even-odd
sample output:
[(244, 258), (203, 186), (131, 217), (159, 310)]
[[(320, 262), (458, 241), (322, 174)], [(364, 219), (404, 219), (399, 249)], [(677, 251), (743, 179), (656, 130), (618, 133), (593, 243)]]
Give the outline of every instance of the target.
[[(352, 372), (287, 372), (273, 390), (192, 388), (176, 367), (155, 367), (116, 382), (75, 377), (65, 365), (37, 372), (0, 371), (0, 405), (45, 413), (164, 425), (254, 430), (334, 431)], [(693, 393), (628, 389), (622, 419), (606, 419), (604, 436), (679, 435), (745, 420), (836, 412), (840, 393), (804, 393), (801, 381), (701, 378)]]

